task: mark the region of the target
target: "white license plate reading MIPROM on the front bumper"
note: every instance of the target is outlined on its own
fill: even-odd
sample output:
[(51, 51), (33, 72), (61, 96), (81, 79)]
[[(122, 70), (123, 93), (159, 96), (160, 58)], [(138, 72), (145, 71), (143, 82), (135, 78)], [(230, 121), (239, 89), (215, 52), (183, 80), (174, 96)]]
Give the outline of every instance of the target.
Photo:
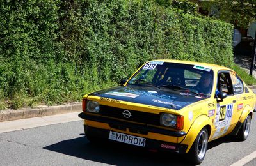
[(145, 138), (127, 135), (124, 133), (112, 132), (112, 131), (109, 132), (108, 139), (115, 140), (118, 142), (123, 142), (126, 144), (132, 144), (135, 146), (143, 146), (144, 147), (146, 144)]

